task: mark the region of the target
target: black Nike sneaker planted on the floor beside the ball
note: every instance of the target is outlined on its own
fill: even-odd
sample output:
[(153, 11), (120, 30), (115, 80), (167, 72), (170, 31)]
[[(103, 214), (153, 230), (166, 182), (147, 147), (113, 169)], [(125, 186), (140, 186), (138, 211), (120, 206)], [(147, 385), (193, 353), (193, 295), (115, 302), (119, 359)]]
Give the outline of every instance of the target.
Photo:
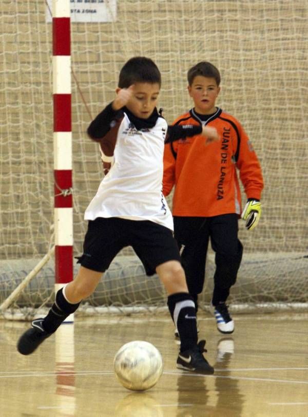
[(185, 352), (180, 352), (177, 359), (177, 368), (196, 373), (203, 373), (205, 375), (213, 374), (213, 366), (209, 365), (202, 354), (203, 352), (206, 352), (204, 346), (205, 340), (200, 340), (194, 349), (188, 349), (185, 350)]

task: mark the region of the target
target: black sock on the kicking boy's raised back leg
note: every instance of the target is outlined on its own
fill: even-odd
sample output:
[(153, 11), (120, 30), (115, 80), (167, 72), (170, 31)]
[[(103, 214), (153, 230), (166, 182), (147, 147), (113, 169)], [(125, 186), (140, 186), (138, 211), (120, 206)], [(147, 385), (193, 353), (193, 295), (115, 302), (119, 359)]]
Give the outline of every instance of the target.
[(43, 328), (47, 333), (53, 333), (71, 313), (76, 311), (80, 302), (71, 304), (63, 295), (63, 288), (57, 291), (54, 304), (44, 318)]

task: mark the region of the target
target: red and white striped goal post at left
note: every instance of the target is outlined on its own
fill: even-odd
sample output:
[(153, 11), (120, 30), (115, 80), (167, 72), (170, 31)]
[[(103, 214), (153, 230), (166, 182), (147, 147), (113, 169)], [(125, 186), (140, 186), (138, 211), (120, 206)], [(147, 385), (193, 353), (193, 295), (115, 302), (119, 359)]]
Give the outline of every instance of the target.
[[(70, 0), (52, 2), (55, 291), (73, 279)], [(67, 321), (72, 321), (72, 316)]]

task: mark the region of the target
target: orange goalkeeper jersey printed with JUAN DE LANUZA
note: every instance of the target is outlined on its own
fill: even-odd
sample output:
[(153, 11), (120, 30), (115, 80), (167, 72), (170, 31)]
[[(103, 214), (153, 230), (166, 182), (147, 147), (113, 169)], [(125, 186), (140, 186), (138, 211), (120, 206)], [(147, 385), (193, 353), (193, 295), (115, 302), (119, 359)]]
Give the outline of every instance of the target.
[[(200, 124), (194, 109), (174, 124)], [(205, 145), (197, 135), (168, 143), (164, 150), (163, 194), (175, 185), (174, 216), (211, 217), (241, 213), (238, 174), (246, 197), (260, 199), (263, 178), (260, 163), (241, 124), (217, 108), (205, 124), (215, 127), (220, 140)]]

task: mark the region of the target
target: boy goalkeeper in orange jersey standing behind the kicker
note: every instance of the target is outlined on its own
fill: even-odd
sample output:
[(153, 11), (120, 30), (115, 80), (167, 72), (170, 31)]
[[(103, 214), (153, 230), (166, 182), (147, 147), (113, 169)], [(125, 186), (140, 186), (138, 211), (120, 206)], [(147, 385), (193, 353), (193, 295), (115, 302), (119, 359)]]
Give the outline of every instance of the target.
[[(253, 230), (261, 215), (263, 178), (255, 151), (243, 127), (215, 102), (220, 73), (209, 62), (200, 62), (187, 74), (194, 108), (174, 125), (215, 127), (221, 138), (209, 146), (199, 135), (165, 145), (163, 194), (175, 185), (172, 214), (175, 238), (181, 252), (189, 293), (196, 309), (202, 292), (208, 241), (215, 251), (216, 271), (212, 305), (221, 333), (232, 333), (234, 321), (226, 300), (240, 267), (243, 247), (238, 239), (241, 194), (237, 170), (247, 196), (241, 217)], [(176, 330), (177, 334), (177, 330)]]

